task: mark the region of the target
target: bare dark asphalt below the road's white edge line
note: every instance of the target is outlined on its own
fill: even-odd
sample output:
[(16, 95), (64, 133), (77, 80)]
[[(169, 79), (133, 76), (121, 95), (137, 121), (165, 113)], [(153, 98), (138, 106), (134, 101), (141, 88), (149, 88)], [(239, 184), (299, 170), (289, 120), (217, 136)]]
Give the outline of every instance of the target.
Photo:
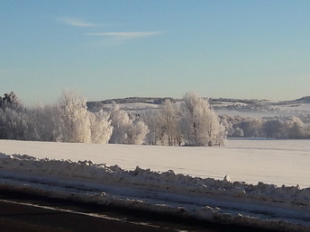
[(0, 231), (168, 231), (78, 212), (0, 201)]

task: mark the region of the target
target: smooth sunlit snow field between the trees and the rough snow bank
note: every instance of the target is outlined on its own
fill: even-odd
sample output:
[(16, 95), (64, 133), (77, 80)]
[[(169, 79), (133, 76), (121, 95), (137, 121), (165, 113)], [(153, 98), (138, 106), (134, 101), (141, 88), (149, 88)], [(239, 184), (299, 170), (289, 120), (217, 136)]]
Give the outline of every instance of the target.
[(70, 144), (0, 140), (0, 152), (38, 158), (92, 160), (96, 164), (137, 165), (153, 171), (247, 183), (310, 187), (310, 141), (229, 139), (224, 147), (163, 147), (135, 145)]

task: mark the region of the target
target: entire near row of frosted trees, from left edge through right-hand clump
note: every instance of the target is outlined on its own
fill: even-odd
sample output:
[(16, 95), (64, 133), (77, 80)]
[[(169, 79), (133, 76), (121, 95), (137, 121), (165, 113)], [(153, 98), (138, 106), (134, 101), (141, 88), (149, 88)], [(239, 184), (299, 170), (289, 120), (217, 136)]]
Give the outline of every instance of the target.
[(64, 93), (54, 105), (23, 108), (14, 93), (0, 102), (0, 138), (77, 143), (123, 143), (169, 146), (223, 145), (224, 127), (207, 101), (186, 94), (167, 101), (158, 112), (130, 115), (114, 104), (108, 112), (87, 111), (87, 101)]

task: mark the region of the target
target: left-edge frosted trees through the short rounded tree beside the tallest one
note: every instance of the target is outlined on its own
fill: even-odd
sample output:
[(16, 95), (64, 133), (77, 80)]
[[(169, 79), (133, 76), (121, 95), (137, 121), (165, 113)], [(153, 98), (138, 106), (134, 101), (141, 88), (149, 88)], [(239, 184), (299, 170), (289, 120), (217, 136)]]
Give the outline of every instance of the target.
[(16, 97), (0, 107), (0, 138), (107, 143), (112, 131), (109, 113), (88, 112), (86, 99), (78, 94), (63, 93), (58, 103), (31, 110)]

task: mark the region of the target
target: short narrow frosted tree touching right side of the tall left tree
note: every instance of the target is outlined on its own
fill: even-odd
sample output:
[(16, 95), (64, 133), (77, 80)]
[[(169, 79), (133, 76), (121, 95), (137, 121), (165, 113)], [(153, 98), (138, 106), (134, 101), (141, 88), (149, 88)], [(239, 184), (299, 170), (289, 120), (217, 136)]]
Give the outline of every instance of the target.
[(103, 110), (95, 113), (89, 112), (89, 119), (92, 143), (108, 143), (113, 133), (110, 114)]

